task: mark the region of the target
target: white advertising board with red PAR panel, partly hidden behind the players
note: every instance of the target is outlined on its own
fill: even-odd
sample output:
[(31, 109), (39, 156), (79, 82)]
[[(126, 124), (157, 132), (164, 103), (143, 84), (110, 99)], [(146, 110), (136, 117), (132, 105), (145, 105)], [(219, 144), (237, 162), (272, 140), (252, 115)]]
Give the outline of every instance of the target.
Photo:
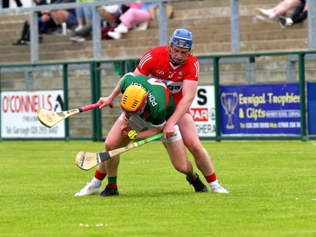
[(215, 137), (215, 100), (214, 86), (197, 86), (190, 112), (197, 127), (199, 137)]

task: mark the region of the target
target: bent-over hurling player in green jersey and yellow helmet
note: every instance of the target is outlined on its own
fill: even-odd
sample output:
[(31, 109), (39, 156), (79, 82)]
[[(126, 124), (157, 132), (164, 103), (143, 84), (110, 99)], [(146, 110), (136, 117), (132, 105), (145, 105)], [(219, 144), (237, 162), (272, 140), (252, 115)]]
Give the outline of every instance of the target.
[[(166, 120), (175, 110), (175, 102), (168, 88), (157, 79), (124, 75), (113, 92), (108, 97), (101, 97), (98, 102), (100, 109), (110, 105), (122, 93), (120, 107), (123, 113), (112, 126), (105, 141), (105, 151), (112, 151), (130, 143), (127, 133), (130, 130), (138, 132), (138, 139), (145, 139), (163, 131)], [(176, 170), (185, 174), (187, 180), (194, 186), (196, 192), (208, 192), (207, 187), (194, 172), (192, 163), (188, 160), (179, 127), (175, 125), (177, 135), (166, 137), (162, 143), (166, 148), (171, 163)], [(119, 156), (100, 163), (90, 183), (87, 183), (75, 196), (99, 194), (101, 184), (108, 175), (108, 184), (100, 196), (118, 195), (117, 175)]]

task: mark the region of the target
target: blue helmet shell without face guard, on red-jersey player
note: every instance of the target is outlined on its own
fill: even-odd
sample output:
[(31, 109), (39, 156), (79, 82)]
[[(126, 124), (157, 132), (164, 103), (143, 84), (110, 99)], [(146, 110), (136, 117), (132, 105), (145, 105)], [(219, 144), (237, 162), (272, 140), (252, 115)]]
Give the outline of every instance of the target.
[(192, 52), (195, 44), (193, 44), (192, 33), (186, 29), (176, 29), (171, 38), (169, 38), (169, 47), (175, 44), (179, 47), (189, 48)]

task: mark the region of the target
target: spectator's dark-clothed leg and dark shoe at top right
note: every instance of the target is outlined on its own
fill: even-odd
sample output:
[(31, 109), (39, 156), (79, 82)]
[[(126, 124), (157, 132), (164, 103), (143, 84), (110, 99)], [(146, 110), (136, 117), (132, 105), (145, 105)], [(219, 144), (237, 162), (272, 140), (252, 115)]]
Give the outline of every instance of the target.
[(307, 18), (307, 2), (295, 8), (291, 17), (280, 16), (277, 19), (278, 24), (283, 29), (291, 27), (297, 23), (303, 22)]

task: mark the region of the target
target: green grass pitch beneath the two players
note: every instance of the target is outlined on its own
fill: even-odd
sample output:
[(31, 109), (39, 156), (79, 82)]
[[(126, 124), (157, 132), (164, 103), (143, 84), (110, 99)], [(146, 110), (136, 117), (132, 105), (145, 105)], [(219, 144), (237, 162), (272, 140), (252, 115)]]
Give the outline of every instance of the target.
[(153, 142), (121, 156), (118, 197), (73, 197), (95, 171), (77, 152), (103, 143), (0, 142), (0, 236), (316, 236), (316, 142), (203, 145), (229, 195), (195, 193)]

